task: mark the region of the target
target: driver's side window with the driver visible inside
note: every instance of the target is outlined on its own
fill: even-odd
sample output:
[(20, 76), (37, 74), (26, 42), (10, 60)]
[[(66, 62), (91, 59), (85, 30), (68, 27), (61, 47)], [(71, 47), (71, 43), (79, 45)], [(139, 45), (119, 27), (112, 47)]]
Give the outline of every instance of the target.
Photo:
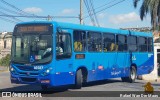
[(56, 58), (70, 58), (72, 51), (70, 34), (57, 34), (56, 39)]

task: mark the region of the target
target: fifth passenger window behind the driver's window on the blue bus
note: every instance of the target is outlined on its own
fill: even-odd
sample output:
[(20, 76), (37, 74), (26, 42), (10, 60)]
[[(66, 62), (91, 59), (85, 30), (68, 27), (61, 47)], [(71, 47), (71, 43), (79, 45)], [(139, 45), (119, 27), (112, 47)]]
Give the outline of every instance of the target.
[(128, 50), (129, 51), (135, 52), (138, 50), (136, 36), (128, 36), (127, 43), (128, 43)]

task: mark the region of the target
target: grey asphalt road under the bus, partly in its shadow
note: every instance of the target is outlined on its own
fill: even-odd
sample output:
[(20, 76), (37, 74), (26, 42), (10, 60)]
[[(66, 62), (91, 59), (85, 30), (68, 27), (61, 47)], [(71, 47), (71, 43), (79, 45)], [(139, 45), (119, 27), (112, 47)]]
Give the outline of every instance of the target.
[[(110, 79), (110, 80), (105, 80), (105, 81), (91, 82), (91, 83), (84, 85), (82, 87), (82, 89), (74, 89), (72, 86), (69, 86), (69, 87), (59, 87), (59, 88), (55, 89), (56, 91), (53, 91), (53, 89), (50, 88), (49, 92), (42, 93), (42, 95), (43, 95), (43, 97), (44, 96), (47, 97), (45, 99), (48, 99), (48, 100), (53, 99), (53, 97), (52, 97), (53, 94), (58, 95), (58, 97), (61, 97), (61, 95), (62, 95), (62, 99), (71, 100), (72, 97), (66, 98), (66, 97), (64, 97), (64, 94), (66, 93), (68, 95), (70, 93), (72, 94), (72, 93), (76, 93), (76, 92), (79, 94), (90, 93), (91, 95), (93, 94), (93, 97), (94, 97), (94, 95), (95, 95), (94, 92), (101, 93), (102, 91), (109, 91), (108, 93), (110, 93), (110, 94), (112, 93), (112, 91), (144, 91), (143, 85), (145, 85), (146, 83), (147, 83), (147, 81), (144, 81), (144, 80), (136, 80), (135, 83), (127, 83), (127, 82), (122, 82), (121, 79), (119, 79), (119, 78), (116, 78), (116, 79)], [(152, 84), (155, 91), (160, 91), (160, 82), (151, 82), (151, 84)], [(40, 87), (40, 85), (11, 84), (9, 72), (0, 72), (0, 91), (4, 91), (4, 92), (5, 91), (18, 91), (18, 92), (19, 91), (20, 92), (36, 91), (36, 92), (41, 92), (41, 87)], [(94, 92), (92, 93), (92, 92), (88, 92), (88, 91), (92, 91), (92, 92), (94, 91)], [(65, 94), (65, 96), (66, 96), (66, 94)], [(103, 99), (105, 99), (105, 98), (106, 97), (104, 97)], [(6, 100), (5, 98), (1, 98), (1, 97), (0, 97), (0, 99)], [(7, 98), (7, 99), (9, 99), (9, 98)], [(26, 98), (26, 99), (28, 99), (28, 98)], [(42, 99), (42, 98), (39, 98), (39, 99)], [(80, 99), (80, 98), (76, 98), (76, 99)], [(87, 98), (87, 99), (90, 100), (90, 98)], [(93, 99), (96, 99), (96, 98), (94, 97), (94, 98), (92, 98), (92, 100)], [(124, 100), (124, 99), (125, 98), (122, 98), (122, 100)], [(17, 100), (17, 98), (15, 98), (15, 100)], [(56, 100), (57, 100), (57, 98), (56, 98)], [(82, 98), (80, 100), (82, 100)]]

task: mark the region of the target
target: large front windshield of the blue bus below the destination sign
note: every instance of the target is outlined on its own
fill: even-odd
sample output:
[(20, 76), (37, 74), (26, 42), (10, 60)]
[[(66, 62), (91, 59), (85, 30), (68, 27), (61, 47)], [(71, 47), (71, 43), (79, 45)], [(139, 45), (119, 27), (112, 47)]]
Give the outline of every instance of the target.
[(41, 64), (52, 60), (52, 36), (43, 34), (13, 35), (12, 61)]

